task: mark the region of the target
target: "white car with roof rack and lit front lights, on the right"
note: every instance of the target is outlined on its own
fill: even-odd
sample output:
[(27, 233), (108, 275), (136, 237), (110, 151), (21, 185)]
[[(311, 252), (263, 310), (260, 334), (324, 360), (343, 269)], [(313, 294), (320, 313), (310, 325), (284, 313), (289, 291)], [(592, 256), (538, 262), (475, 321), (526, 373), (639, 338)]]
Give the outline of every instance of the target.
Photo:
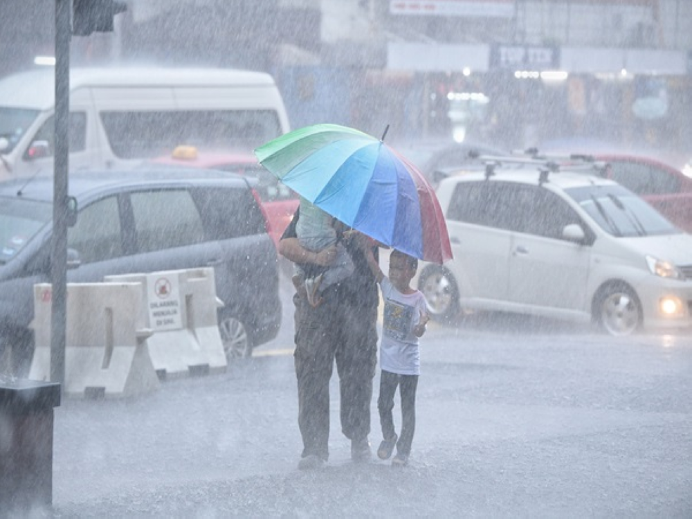
[(421, 268), (432, 318), (509, 311), (612, 335), (692, 327), (692, 235), (621, 185), (498, 167), (450, 176), (437, 197), (454, 260)]

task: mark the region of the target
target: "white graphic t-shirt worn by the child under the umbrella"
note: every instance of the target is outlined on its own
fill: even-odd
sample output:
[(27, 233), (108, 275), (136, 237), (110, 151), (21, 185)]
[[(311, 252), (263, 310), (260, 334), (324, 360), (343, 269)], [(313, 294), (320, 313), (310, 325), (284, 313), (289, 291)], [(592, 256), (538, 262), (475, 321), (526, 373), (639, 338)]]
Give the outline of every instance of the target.
[(399, 292), (388, 277), (382, 278), (380, 288), (385, 300), (380, 368), (401, 375), (419, 375), (421, 356), (413, 328), (421, 320), (421, 312), (428, 313), (426, 298), (420, 291)]

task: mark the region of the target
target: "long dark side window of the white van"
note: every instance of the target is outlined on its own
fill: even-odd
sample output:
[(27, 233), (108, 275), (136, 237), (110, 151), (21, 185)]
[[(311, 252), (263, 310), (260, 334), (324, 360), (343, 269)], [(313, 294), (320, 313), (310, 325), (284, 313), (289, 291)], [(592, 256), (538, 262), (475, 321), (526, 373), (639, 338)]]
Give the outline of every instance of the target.
[(281, 135), (272, 110), (102, 111), (119, 158), (154, 158), (178, 145), (252, 151)]

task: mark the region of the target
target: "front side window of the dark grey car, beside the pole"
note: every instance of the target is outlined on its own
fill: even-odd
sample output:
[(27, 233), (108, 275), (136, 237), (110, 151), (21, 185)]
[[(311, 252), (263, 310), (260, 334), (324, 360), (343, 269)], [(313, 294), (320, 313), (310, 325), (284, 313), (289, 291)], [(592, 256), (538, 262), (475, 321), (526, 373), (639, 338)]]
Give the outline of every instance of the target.
[(82, 208), (77, 224), (67, 230), (67, 246), (79, 253), (82, 263), (122, 256), (118, 199), (108, 197)]

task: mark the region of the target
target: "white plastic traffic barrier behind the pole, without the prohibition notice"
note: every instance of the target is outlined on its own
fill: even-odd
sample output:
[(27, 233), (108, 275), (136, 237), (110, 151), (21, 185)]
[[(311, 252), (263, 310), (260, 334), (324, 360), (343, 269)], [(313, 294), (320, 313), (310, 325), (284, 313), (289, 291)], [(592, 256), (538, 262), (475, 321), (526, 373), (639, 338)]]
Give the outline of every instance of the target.
[[(51, 377), (51, 284), (34, 285), (29, 378)], [(67, 284), (66, 397), (130, 397), (159, 388), (143, 326), (141, 283)]]

